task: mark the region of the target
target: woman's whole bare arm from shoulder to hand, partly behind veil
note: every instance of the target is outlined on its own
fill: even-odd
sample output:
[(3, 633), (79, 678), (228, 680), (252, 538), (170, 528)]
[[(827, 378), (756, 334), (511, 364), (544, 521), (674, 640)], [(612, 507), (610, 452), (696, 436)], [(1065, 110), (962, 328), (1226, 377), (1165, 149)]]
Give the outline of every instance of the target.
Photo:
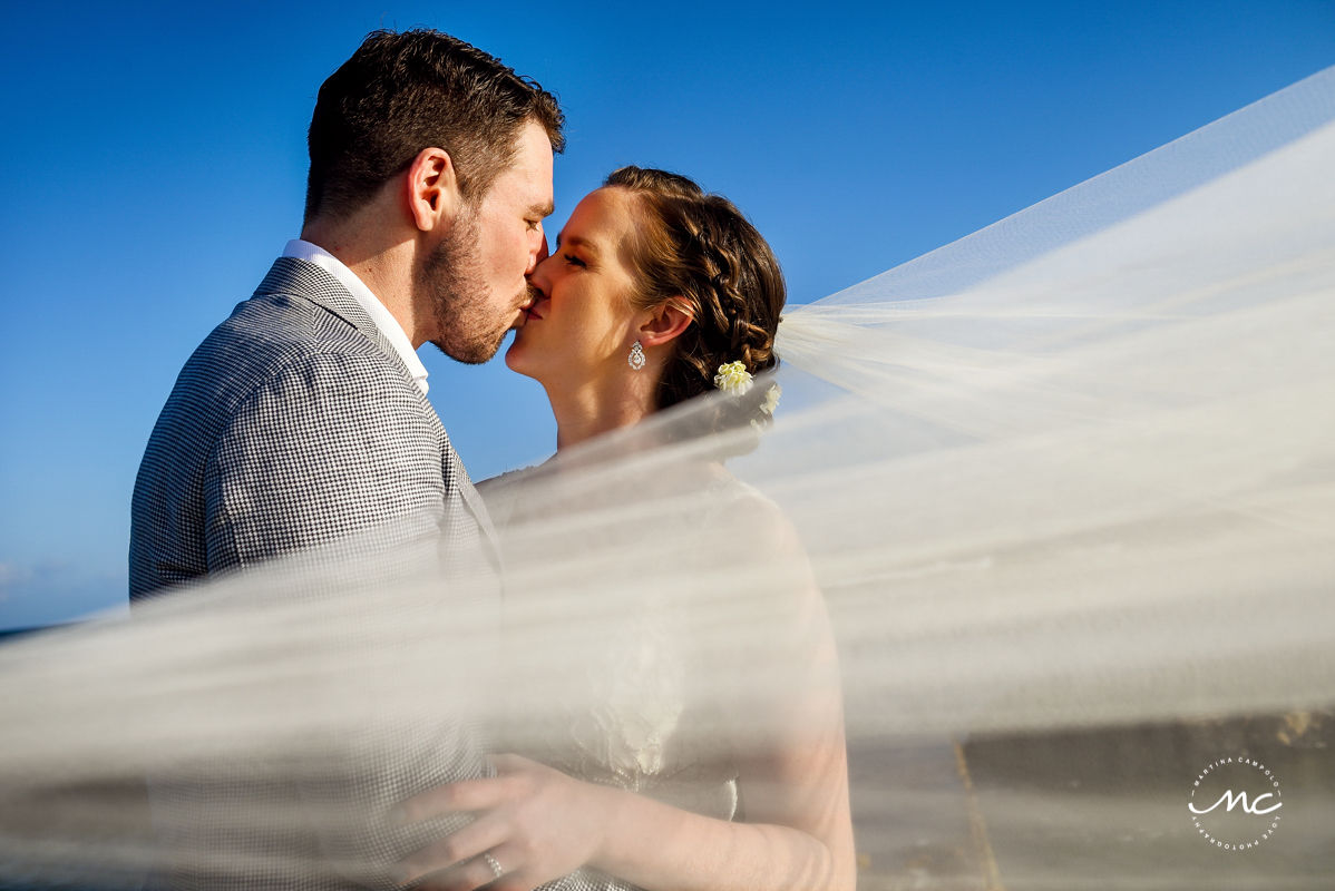
[[(786, 520), (765, 531), (776, 554), (801, 554)], [(756, 523), (756, 515), (750, 515)], [(754, 527), (753, 527), (754, 528)], [(473, 811), (478, 819), (405, 863), (426, 887), (533, 888), (591, 866), (649, 891), (850, 890), (856, 884), (848, 763), (836, 651), (825, 604), (808, 574), (788, 588), (777, 654), (785, 678), (806, 683), (773, 699), (741, 752), (745, 823), (685, 811), (634, 792), (573, 779), (515, 755), (498, 776), (441, 787), (405, 802), (403, 819)], [(796, 664), (794, 664), (796, 663)], [(764, 671), (760, 666), (754, 668)], [(805, 692), (800, 692), (805, 691)], [(738, 728), (738, 734), (744, 728)], [(764, 744), (761, 744), (764, 739)], [(483, 859), (489, 854), (491, 860)], [(505, 876), (495, 882), (494, 866)]]

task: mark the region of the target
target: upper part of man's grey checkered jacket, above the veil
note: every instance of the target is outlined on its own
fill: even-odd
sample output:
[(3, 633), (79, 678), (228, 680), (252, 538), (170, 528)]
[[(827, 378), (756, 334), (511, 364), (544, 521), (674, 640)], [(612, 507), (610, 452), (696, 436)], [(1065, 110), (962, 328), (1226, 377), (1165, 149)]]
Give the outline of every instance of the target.
[(129, 594), (354, 538), (392, 548), (439, 527), (494, 555), (445, 428), (334, 276), (279, 259), (190, 357), (139, 468)]

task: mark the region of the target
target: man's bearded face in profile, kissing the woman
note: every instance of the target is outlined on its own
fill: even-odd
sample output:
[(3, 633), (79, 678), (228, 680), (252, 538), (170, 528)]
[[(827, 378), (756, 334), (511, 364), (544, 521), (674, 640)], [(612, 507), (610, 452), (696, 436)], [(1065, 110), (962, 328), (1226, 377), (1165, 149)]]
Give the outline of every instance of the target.
[(427, 257), (419, 287), (435, 308), (431, 343), (466, 363), (491, 359), (531, 303), (527, 275), (546, 245), (551, 213), (551, 141), (541, 124), (519, 132), (515, 157), (481, 199), (465, 207)]

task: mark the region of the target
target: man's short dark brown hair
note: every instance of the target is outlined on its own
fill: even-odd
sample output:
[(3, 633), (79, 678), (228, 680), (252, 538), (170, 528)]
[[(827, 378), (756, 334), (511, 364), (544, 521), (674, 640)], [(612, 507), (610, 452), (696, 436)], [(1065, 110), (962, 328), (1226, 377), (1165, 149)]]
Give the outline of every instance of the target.
[(561, 107), (535, 81), (439, 31), (374, 31), (315, 100), (306, 220), (355, 211), (431, 147), (450, 153), (463, 197), (475, 200), (529, 120), (562, 149)]

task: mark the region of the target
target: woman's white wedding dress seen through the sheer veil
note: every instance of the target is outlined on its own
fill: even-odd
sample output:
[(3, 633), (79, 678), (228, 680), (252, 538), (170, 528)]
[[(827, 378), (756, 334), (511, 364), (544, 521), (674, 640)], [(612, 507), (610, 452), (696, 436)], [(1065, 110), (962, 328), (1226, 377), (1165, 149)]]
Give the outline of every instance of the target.
[[(511, 472), (478, 486), (507, 568), (525, 560), (522, 552), (505, 547), (507, 534), (525, 514), (523, 478), (525, 472)], [(690, 511), (631, 527), (626, 532), (630, 539), (666, 535), (668, 550), (657, 566), (637, 566), (611, 586), (614, 603), (605, 600), (597, 607), (599, 644), (551, 666), (562, 676), (553, 684), (557, 702), (537, 712), (510, 715), (519, 754), (582, 780), (696, 814), (737, 819), (738, 766), (726, 740), (745, 734), (732, 724), (748, 712), (729, 712), (712, 695), (720, 682), (718, 660), (702, 654), (706, 644), (693, 639), (693, 594), (637, 584), (637, 579), (688, 570), (694, 555), (712, 550), (710, 543), (729, 527), (728, 518), (752, 511), (764, 518), (774, 510), (754, 488), (718, 472), (701, 486)], [(505, 599), (509, 611), (523, 612), (531, 607), (526, 599), (545, 595), (541, 588), (509, 584)]]

